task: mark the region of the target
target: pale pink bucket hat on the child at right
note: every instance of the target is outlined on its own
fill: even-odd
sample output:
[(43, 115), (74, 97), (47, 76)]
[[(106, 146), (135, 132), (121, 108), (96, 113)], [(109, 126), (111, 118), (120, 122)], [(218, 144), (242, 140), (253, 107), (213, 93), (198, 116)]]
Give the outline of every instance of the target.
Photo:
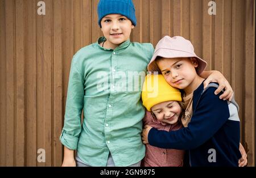
[(164, 36), (158, 42), (158, 44), (155, 47), (154, 55), (151, 58), (150, 63), (148, 63), (148, 71), (158, 71), (159, 73), (161, 73), (161, 71), (158, 68), (158, 65), (156, 65), (155, 62), (155, 59), (158, 56), (164, 58), (196, 57), (199, 63), (198, 67), (196, 67), (198, 75), (200, 75), (207, 67), (207, 62), (202, 60), (200, 57), (196, 56), (191, 42), (189, 40), (184, 39), (184, 37), (181, 36)]

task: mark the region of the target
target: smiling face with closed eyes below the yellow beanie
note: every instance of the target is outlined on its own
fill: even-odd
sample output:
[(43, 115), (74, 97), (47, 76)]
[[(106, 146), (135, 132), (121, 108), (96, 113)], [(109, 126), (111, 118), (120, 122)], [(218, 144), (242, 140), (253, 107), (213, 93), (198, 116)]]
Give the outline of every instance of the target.
[(175, 124), (179, 120), (181, 107), (177, 101), (165, 101), (154, 105), (151, 111), (160, 122)]

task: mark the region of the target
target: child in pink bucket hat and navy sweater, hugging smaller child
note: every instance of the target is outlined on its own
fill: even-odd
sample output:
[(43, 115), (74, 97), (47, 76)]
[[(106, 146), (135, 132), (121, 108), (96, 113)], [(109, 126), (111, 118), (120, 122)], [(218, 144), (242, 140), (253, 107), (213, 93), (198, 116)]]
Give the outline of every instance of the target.
[(164, 149), (189, 150), (190, 166), (234, 166), (241, 159), (238, 105), (221, 100), (217, 83), (204, 88), (200, 74), (207, 62), (196, 56), (193, 45), (183, 37), (165, 36), (156, 45), (148, 71), (159, 71), (172, 87), (183, 90), (184, 128), (172, 132), (146, 125), (143, 143)]

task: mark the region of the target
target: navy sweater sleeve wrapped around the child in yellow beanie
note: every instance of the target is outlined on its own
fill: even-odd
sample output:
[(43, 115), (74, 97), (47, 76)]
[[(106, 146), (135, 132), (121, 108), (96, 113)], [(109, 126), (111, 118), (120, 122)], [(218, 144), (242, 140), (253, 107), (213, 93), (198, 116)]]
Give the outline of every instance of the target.
[(214, 90), (216, 88), (209, 87), (201, 95), (187, 128), (172, 132), (152, 128), (148, 133), (149, 144), (164, 149), (190, 150), (213, 137), (229, 118), (227, 101), (219, 99), (221, 94), (215, 95)]

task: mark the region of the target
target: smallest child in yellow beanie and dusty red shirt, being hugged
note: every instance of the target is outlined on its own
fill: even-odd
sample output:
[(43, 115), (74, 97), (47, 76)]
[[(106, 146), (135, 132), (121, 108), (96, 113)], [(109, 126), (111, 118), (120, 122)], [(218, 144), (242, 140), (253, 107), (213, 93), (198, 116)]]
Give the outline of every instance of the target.
[[(170, 86), (163, 75), (147, 75), (142, 90), (142, 101), (147, 112), (144, 124), (159, 130), (178, 130), (182, 127), (181, 93)], [(142, 166), (183, 166), (184, 150), (160, 149), (146, 145)]]

